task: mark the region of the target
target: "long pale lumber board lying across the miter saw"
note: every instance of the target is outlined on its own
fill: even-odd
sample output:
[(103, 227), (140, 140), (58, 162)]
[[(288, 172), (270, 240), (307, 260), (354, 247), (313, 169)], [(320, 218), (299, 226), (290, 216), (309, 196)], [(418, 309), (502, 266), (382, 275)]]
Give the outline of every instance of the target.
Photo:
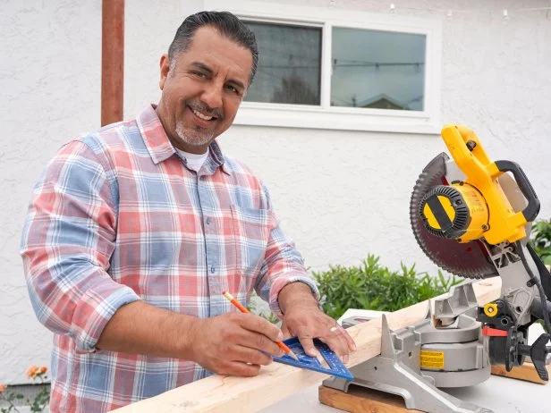
[[(474, 284), (479, 305), (497, 299), (501, 291), (499, 277)], [(428, 301), (403, 308), (387, 316), (388, 325), (397, 330), (424, 319)], [(380, 354), (381, 319), (354, 325), (347, 329), (358, 348), (350, 356), (349, 367), (356, 366)], [(298, 367), (272, 363), (262, 367), (256, 377), (213, 375), (186, 384), (150, 399), (141, 400), (121, 409), (119, 413), (172, 412), (254, 412), (263, 409), (292, 393), (319, 384), (327, 376)]]

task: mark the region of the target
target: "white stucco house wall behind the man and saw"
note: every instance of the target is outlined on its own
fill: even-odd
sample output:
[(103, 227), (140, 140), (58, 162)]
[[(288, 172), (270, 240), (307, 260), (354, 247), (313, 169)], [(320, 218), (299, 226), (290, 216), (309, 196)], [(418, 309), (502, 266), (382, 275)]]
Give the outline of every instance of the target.
[[(158, 59), (182, 18), (203, 3), (126, 3), (124, 114), (130, 118), (157, 101)], [(375, 13), (389, 13), (390, 4), (334, 3), (302, 2)], [(538, 192), (540, 216), (551, 217), (551, 17), (512, 12), (548, 1), (394, 3), (396, 13), (443, 20), (445, 12), (428, 9), (471, 10), (444, 23), (442, 120), (477, 131), (494, 159), (520, 163)], [(504, 8), (509, 21), (501, 17)], [(99, 126), (101, 2), (2, 2), (0, 21), (0, 383), (15, 384), (25, 382), (29, 364), (48, 364), (51, 341), (23, 282), (21, 226), (48, 159), (66, 140)], [(220, 142), (267, 182), (284, 228), (312, 269), (357, 264), (371, 252), (385, 265), (402, 260), (435, 273), (412, 238), (408, 208), (423, 166), (445, 150), (437, 136), (234, 126)]]

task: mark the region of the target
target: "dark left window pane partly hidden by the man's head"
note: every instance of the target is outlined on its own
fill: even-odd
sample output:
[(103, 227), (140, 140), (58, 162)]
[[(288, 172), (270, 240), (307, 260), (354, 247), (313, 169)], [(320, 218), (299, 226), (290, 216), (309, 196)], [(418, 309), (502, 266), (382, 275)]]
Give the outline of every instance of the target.
[(321, 29), (246, 21), (259, 68), (245, 101), (320, 105)]

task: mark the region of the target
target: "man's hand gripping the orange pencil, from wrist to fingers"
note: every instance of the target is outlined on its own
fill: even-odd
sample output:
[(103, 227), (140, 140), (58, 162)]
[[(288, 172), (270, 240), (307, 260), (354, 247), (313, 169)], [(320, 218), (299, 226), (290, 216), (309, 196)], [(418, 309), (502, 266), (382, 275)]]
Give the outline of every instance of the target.
[(192, 328), (191, 358), (219, 375), (258, 375), (273, 361), (269, 355), (284, 355), (274, 342), (282, 331), (260, 316), (227, 313), (197, 319)]

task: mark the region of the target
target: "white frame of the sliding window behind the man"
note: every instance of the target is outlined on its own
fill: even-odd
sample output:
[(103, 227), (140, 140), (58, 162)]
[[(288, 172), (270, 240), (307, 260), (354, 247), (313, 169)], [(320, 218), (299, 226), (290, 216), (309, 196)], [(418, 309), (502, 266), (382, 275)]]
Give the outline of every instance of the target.
[[(439, 134), (442, 76), (442, 21), (335, 7), (205, 0), (208, 10), (226, 10), (246, 21), (319, 27), (322, 30), (320, 105), (243, 101), (234, 124), (340, 131), (383, 131)], [(331, 106), (331, 46), (333, 27), (382, 30), (426, 36), (423, 111)]]

